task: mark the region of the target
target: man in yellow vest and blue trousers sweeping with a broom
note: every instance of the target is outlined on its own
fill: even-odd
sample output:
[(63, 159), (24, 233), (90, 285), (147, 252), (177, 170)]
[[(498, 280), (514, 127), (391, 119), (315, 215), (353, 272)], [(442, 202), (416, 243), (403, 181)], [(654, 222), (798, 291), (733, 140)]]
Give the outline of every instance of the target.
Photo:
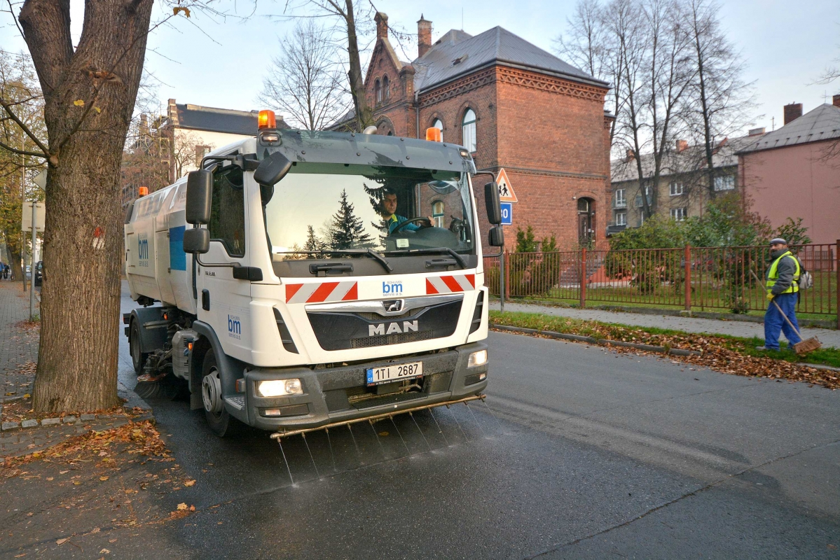
[[(764, 312), (764, 346), (759, 350), (779, 350), (779, 333), (788, 339), (788, 348), (801, 342), (796, 333), (796, 302), (799, 301), (799, 278), (802, 265), (788, 249), (783, 238), (770, 240), (770, 268), (764, 275), (768, 306)], [(777, 303), (776, 307), (773, 303)], [(780, 310), (781, 309), (781, 313)], [(783, 315), (784, 314), (784, 315)], [(793, 323), (795, 330), (785, 321), (785, 316)]]

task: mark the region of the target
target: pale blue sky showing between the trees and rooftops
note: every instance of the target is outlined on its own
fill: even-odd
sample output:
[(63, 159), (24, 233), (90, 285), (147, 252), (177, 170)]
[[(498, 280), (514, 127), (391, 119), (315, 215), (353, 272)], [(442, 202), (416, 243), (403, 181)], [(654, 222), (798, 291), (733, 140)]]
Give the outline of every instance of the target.
[[(253, 4), (239, 0), (240, 13)], [(81, 0), (72, 0), (73, 29), (81, 26)], [(225, 5), (224, 2), (220, 5)], [(234, 5), (228, 3), (227, 5)], [(256, 109), (264, 69), (277, 51), (277, 37), (291, 29), (289, 22), (265, 17), (280, 13), (285, 2), (260, 2), (258, 13), (245, 21), (227, 23), (206, 14), (192, 13), (191, 20), (176, 18), (173, 25), (155, 30), (150, 37), (147, 68), (162, 82), (161, 102), (170, 97), (209, 107)], [(571, 0), (427, 0), (423, 3), (375, 0), (392, 25), (417, 32), (423, 15), (433, 22), (433, 41), (449, 29), (470, 34), (501, 25), (544, 50), (553, 52), (552, 39), (565, 28), (574, 9)], [(155, 18), (164, 13), (155, 3)], [(832, 60), (840, 57), (840, 9), (837, 0), (728, 0), (722, 2), (721, 19), (732, 40), (748, 61), (748, 81), (755, 81), (759, 107), (755, 126), (776, 128), (785, 103), (801, 102), (803, 110), (831, 102), (840, 93), (840, 81), (814, 85)], [(0, 14), (0, 48), (23, 50), (25, 44), (8, 13)], [(200, 29), (199, 29), (200, 28)], [(211, 39), (211, 37), (213, 39)], [(411, 60), (417, 46), (407, 46)], [(154, 50), (154, 51), (152, 51)]]

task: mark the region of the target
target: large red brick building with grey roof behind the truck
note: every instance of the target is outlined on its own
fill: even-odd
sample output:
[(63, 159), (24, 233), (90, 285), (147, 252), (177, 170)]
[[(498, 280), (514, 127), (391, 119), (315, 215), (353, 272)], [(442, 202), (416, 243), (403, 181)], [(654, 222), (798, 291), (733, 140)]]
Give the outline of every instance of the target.
[[(538, 239), (556, 235), (561, 249), (604, 242), (611, 220), (606, 82), (501, 27), (475, 37), (453, 29), (432, 43), (423, 17), (417, 59), (402, 61), (386, 14), (375, 22), (365, 91), (378, 133), (425, 138), (426, 128), (437, 127), (444, 142), (470, 149), (478, 170), (495, 177), (504, 169), (518, 198), (508, 249), (517, 227), (528, 225)], [(490, 180), (476, 177), (476, 196)], [(435, 211), (445, 208), (429, 207), (428, 215)]]

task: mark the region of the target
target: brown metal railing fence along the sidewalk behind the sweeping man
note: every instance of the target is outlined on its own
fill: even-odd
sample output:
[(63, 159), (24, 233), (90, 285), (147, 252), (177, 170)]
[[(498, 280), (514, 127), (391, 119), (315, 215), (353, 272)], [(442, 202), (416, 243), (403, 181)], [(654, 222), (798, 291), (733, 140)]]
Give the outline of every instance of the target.
[[(840, 323), (840, 242), (791, 250), (814, 278), (814, 287), (801, 291), (798, 312), (823, 316), (815, 318), (837, 317)], [(505, 253), (505, 296), (576, 301), (580, 306), (591, 302), (763, 311), (767, 306), (764, 290), (750, 271), (763, 279), (769, 254), (767, 246)], [(485, 259), (485, 281), (496, 296), (501, 258)]]

